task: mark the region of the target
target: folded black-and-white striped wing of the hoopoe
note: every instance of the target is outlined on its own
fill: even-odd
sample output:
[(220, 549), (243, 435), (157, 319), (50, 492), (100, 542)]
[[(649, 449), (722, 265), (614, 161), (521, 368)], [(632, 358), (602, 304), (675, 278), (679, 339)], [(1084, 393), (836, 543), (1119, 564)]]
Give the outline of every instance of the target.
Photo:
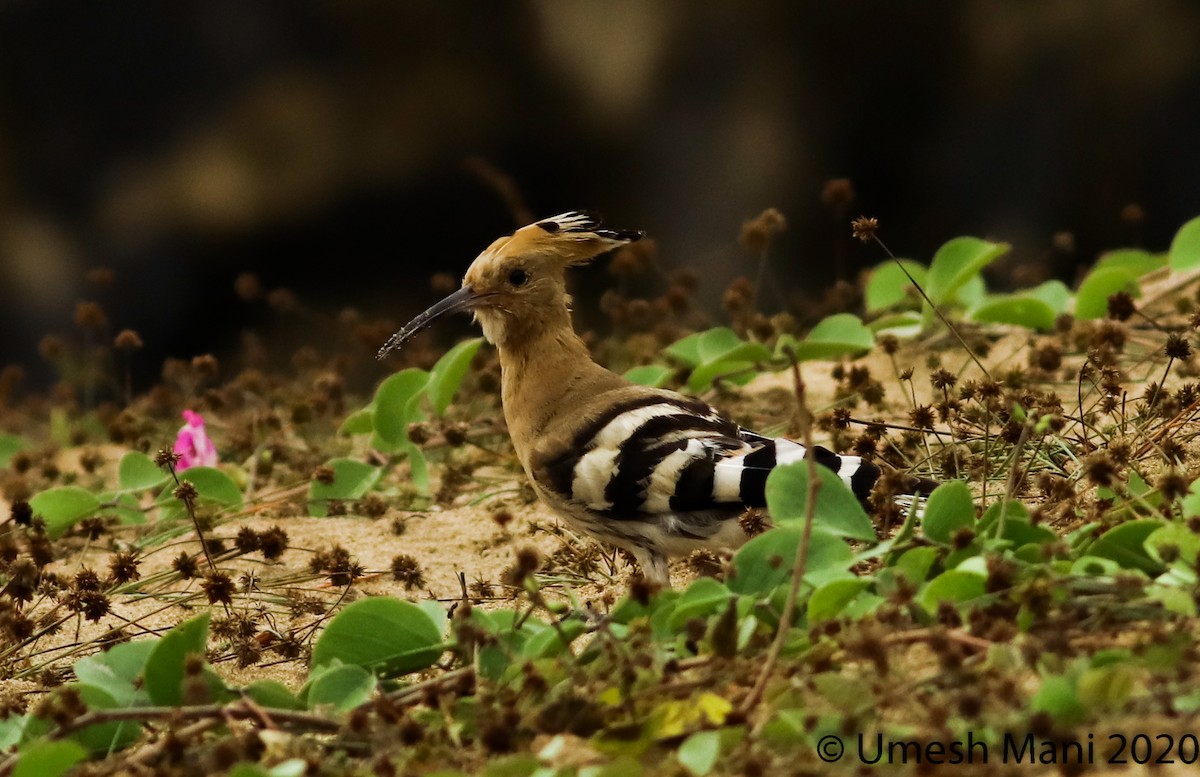
[[(616, 519), (766, 506), (767, 476), (805, 448), (738, 427), (701, 402), (646, 394), (582, 424), (560, 450), (540, 450), (532, 474), (568, 502)], [(865, 496), (878, 470), (815, 448), (817, 462)]]

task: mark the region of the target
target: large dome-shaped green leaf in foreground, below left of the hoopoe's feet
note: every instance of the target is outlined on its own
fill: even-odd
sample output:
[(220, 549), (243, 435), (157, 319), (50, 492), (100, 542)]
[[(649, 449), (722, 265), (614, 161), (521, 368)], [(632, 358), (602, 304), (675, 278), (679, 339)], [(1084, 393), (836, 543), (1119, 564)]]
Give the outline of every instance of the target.
[(312, 649), (312, 665), (337, 659), (394, 677), (433, 665), (444, 650), (442, 634), (420, 607), (376, 597), (354, 602), (329, 622)]

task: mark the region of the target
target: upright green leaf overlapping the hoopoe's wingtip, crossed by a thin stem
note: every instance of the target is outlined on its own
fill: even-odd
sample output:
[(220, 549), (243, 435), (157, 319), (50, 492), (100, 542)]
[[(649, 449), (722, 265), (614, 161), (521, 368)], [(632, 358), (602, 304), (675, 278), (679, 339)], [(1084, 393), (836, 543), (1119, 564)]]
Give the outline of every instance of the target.
[[(817, 465), (821, 487), (812, 513), (814, 531), (840, 537), (877, 540), (875, 524), (853, 492), (828, 466)], [(808, 514), (809, 462), (782, 464), (767, 476), (767, 507), (776, 526), (800, 525)]]

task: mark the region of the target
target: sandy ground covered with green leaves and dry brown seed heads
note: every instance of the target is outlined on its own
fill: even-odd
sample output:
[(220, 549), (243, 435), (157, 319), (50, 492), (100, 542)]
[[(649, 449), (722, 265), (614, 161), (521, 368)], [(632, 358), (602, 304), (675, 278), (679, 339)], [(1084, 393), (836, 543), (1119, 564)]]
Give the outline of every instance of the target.
[[(779, 228), (744, 243), (766, 263)], [(244, 276), (277, 331), (134, 394), (139, 336), (82, 303), (53, 391), (0, 374), (0, 775), (1194, 764), (1200, 219), (1075, 289), (990, 293), (1007, 249), (888, 258), (798, 318), (738, 281), (721, 321), (653, 245), (614, 257), (601, 361), (944, 481), (918, 516), (886, 477), (868, 513), (780, 468), (772, 520), (665, 591), (536, 505), (479, 339), (384, 374), (396, 321)], [(211, 466), (172, 453), (187, 408)]]

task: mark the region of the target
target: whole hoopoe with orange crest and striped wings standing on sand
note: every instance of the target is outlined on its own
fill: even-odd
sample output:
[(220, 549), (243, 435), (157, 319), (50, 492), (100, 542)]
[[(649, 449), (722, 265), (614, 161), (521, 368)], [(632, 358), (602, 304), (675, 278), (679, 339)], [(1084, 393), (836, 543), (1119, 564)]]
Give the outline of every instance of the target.
[[(462, 288), (396, 332), (379, 357), (440, 315), (473, 313), (499, 351), (504, 418), (538, 496), (584, 535), (629, 550), (648, 579), (668, 586), (670, 558), (744, 544), (738, 518), (766, 506), (773, 468), (806, 451), (592, 361), (571, 325), (565, 271), (642, 236), (605, 229), (583, 212), (523, 227), (479, 254)], [(857, 456), (814, 446), (812, 457), (860, 499), (880, 478)]]

